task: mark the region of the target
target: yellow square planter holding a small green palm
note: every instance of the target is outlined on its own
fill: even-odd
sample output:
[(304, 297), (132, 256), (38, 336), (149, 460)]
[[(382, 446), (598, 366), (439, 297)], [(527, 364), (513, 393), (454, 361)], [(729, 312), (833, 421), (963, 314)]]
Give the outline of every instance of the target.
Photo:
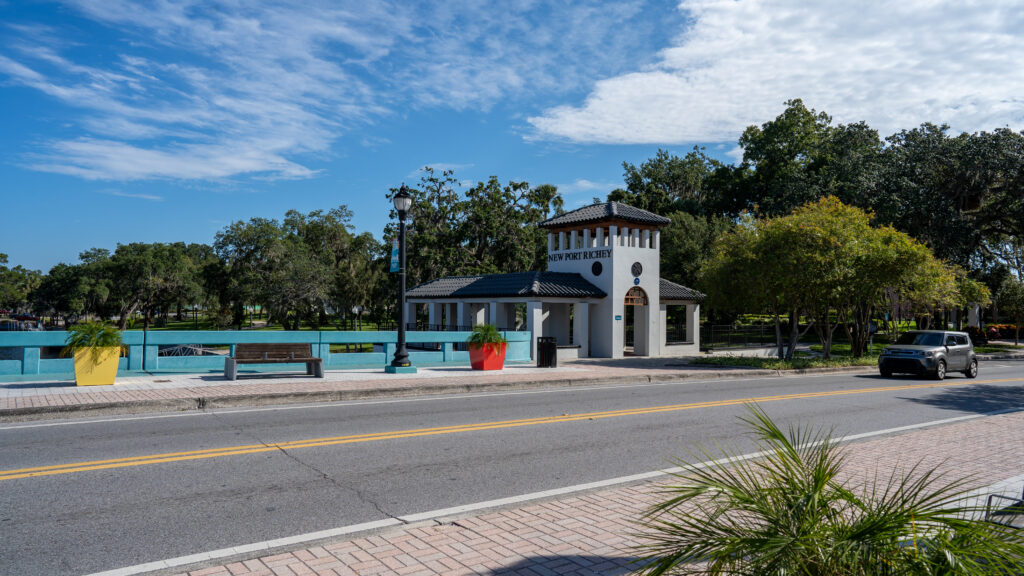
[(121, 332), (105, 322), (83, 322), (68, 332), (63, 356), (75, 358), (80, 386), (113, 384), (121, 358)]

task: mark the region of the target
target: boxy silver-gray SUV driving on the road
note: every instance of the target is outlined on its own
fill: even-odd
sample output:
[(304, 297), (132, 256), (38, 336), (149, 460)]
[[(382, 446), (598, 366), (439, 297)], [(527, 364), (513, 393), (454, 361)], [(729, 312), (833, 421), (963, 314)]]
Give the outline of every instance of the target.
[(968, 378), (978, 375), (978, 357), (966, 332), (915, 330), (905, 332), (879, 357), (879, 372), (930, 374), (936, 380), (948, 372), (963, 372)]

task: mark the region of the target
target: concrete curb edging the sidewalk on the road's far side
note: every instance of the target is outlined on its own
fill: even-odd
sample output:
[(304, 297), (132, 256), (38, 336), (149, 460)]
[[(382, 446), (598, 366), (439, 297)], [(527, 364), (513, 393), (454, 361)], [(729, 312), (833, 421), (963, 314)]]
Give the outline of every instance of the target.
[(381, 387), (371, 389), (317, 390), (309, 393), (285, 392), (280, 394), (217, 395), (202, 396), (198, 388), (184, 388), (197, 393), (194, 397), (160, 400), (129, 400), (122, 402), (99, 402), (71, 404), (62, 406), (27, 406), (0, 409), (0, 422), (20, 421), (65, 416), (99, 416), (111, 414), (139, 414), (146, 412), (184, 412), (216, 408), (241, 408), (254, 406), (276, 406), (288, 404), (314, 404), (329, 402), (351, 402), (357, 400), (378, 400), (385, 398), (410, 398), (418, 396), (442, 396), (502, 390), (542, 389), (553, 387), (601, 386), (622, 383), (675, 382), (693, 379), (756, 378), (765, 376), (828, 374), (842, 372), (871, 372), (873, 367), (849, 366), (840, 368), (806, 368), (800, 370), (761, 370), (734, 368), (685, 374), (636, 374), (629, 376), (606, 376), (595, 378), (557, 378), (550, 380), (528, 380), (518, 382), (482, 382), (479, 384), (426, 384), (404, 387)]

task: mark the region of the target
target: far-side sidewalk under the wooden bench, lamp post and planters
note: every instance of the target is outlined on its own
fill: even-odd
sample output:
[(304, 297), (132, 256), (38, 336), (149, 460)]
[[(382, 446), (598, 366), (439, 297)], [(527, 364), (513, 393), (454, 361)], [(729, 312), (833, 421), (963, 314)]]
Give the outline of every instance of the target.
[[(842, 369), (840, 369), (842, 370)], [(872, 368), (853, 368), (869, 371)], [(793, 371), (787, 373), (800, 373)], [(508, 365), (480, 372), (466, 367), (421, 368), (416, 374), (383, 369), (328, 371), (306, 375), (252, 374), (229, 381), (220, 373), (155, 374), (119, 377), (111, 386), (76, 386), (74, 381), (0, 382), (0, 421), (105, 414), (181, 411), (288, 403), (337, 402), (367, 398), (454, 394), (543, 386), (674, 381), (687, 378), (770, 376), (772, 370), (691, 366), (686, 359), (588, 360), (558, 368)]]

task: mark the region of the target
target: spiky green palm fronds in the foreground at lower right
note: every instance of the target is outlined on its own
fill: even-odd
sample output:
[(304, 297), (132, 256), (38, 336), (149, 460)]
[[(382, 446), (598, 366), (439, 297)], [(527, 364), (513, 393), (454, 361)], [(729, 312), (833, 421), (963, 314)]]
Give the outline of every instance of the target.
[[(644, 517), (642, 574), (898, 576), (1024, 574), (1024, 533), (983, 520), (966, 480), (920, 464), (850, 486), (830, 431), (742, 418), (763, 454), (681, 462)], [(701, 459), (712, 459), (698, 451)]]

